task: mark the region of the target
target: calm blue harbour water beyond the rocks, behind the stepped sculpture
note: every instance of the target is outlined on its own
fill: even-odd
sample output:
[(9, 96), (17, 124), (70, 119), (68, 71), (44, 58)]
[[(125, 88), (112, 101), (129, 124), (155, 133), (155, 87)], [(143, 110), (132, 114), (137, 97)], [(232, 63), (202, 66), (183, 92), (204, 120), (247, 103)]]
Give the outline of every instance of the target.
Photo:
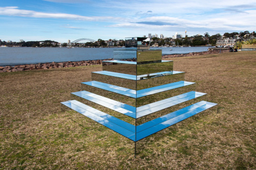
[[(114, 58), (114, 50), (125, 50), (127, 48), (34, 48), (34, 47), (1, 47), (0, 66), (36, 64), (47, 62), (65, 62), (82, 60), (103, 60)], [(130, 49), (130, 48), (129, 48)], [(203, 52), (208, 46), (202, 47), (151, 47), (152, 50), (162, 50), (163, 55), (187, 54), (192, 52)], [(119, 58), (127, 58), (122, 56)], [(131, 56), (130, 58), (133, 58)]]

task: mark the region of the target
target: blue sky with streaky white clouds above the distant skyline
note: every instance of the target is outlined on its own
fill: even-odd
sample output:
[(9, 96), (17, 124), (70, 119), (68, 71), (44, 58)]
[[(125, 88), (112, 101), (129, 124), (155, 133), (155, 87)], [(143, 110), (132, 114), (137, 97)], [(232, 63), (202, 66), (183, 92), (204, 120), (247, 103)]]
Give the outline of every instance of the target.
[(256, 31), (256, 1), (0, 0), (2, 41), (124, 39)]

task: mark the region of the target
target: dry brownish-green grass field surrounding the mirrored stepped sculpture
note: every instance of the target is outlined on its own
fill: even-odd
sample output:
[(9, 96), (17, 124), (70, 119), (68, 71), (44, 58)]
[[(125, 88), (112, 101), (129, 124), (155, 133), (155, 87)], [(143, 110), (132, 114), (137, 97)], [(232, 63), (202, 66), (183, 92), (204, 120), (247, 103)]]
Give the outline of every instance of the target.
[(0, 73), (0, 169), (255, 169), (256, 52), (172, 58), (218, 103), (134, 143), (60, 102), (101, 65)]

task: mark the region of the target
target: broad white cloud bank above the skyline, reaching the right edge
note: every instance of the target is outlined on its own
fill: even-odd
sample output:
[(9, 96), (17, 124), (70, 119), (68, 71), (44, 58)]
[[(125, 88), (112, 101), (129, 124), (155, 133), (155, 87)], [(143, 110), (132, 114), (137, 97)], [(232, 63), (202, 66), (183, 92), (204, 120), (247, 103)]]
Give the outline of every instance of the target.
[[(122, 27), (122, 28), (147, 28), (147, 29), (200, 29), (205, 30), (254, 30), (256, 28), (256, 21), (253, 19), (256, 16), (256, 10), (248, 10), (244, 13), (239, 13), (236, 15), (229, 15), (228, 12), (221, 14), (212, 14), (208, 16), (207, 19), (201, 20), (189, 20), (178, 17), (168, 17), (168, 16), (153, 16), (144, 18), (142, 23), (137, 22), (126, 22), (117, 23), (109, 27)], [(140, 19), (141, 21), (142, 19)], [(150, 24), (145, 24), (145, 21), (150, 21)], [(161, 25), (154, 25), (152, 23), (161, 23)], [(166, 23), (164, 25), (163, 23)], [(170, 24), (168, 24), (170, 23)], [(171, 23), (177, 23), (177, 25), (172, 25)]]

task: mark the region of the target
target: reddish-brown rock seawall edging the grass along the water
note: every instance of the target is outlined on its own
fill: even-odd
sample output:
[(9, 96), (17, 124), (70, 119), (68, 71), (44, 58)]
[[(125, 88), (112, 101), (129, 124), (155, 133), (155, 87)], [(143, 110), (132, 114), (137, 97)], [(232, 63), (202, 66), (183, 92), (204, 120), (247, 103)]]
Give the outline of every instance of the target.
[[(222, 50), (221, 53), (226, 53), (228, 50)], [(165, 58), (173, 57), (185, 57), (185, 56), (199, 56), (205, 54), (220, 53), (219, 51), (206, 51), (206, 52), (194, 52), (188, 54), (172, 54), (162, 56)], [(113, 59), (105, 59), (113, 60)], [(127, 59), (126, 61), (136, 61), (136, 59)], [(0, 66), (0, 72), (14, 72), (14, 71), (27, 71), (33, 69), (52, 69), (52, 68), (63, 68), (63, 67), (78, 67), (87, 65), (97, 65), (102, 64), (102, 60), (88, 60), (88, 61), (67, 61), (67, 62), (51, 62), (51, 63), (38, 63), (38, 64), (24, 64), (24, 65), (14, 65), (14, 66)]]

